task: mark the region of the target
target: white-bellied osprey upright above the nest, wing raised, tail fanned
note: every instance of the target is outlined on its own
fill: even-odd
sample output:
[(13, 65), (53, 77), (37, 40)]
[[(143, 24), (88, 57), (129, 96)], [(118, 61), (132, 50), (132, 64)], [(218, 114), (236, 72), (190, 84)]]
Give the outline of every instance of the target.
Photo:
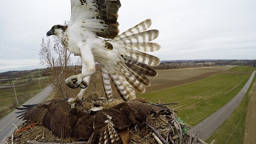
[(101, 65), (108, 99), (113, 97), (110, 79), (123, 100), (129, 101), (135, 98), (135, 91), (143, 93), (145, 85), (150, 85), (146, 76), (157, 75), (148, 66), (158, 66), (160, 60), (145, 52), (160, 49), (160, 45), (150, 43), (157, 38), (158, 30), (147, 30), (151, 26), (151, 20), (147, 19), (118, 35), (119, 7), (118, 0), (71, 0), (69, 25), (55, 25), (47, 32), (47, 36), (58, 36), (63, 46), (82, 59), (82, 74), (65, 80), (71, 88), (82, 88), (69, 102), (83, 98), (95, 62)]

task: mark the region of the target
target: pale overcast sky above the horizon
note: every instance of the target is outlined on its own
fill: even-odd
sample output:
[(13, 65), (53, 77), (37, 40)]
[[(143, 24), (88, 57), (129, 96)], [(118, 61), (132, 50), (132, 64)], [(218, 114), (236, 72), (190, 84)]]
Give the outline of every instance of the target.
[[(121, 33), (150, 18), (161, 60), (256, 59), (256, 1), (122, 0)], [(70, 19), (69, 0), (1, 0), (0, 73), (44, 68), (42, 38)]]

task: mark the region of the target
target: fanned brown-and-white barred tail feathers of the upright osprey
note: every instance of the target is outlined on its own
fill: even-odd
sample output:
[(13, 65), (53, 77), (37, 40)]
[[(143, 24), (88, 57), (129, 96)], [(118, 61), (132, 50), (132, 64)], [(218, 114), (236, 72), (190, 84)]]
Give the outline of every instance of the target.
[[(157, 72), (148, 66), (158, 66), (159, 58), (145, 52), (154, 52), (161, 49), (157, 43), (151, 43), (158, 37), (158, 30), (147, 30), (151, 26), (150, 19), (126, 30), (117, 37), (110, 39), (110, 43), (118, 43), (117, 51), (121, 55), (115, 69), (106, 67), (102, 69), (103, 83), (106, 84), (105, 92), (108, 97), (111, 91), (107, 88), (110, 76), (118, 93), (123, 100), (135, 99), (135, 91), (145, 92), (145, 85), (150, 85), (146, 76), (156, 76)], [(104, 82), (105, 81), (105, 82)]]

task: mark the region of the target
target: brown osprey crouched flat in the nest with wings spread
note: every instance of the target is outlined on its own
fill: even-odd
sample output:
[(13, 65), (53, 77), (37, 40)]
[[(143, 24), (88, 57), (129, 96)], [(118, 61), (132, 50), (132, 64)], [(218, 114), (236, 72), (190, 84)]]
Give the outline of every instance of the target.
[(88, 143), (127, 143), (130, 140), (129, 126), (143, 124), (152, 113), (167, 110), (167, 107), (141, 102), (123, 102), (109, 109), (84, 113), (77, 108), (68, 108), (63, 100), (50, 100), (36, 105), (17, 108), (23, 120), (42, 124), (60, 138), (88, 140)]

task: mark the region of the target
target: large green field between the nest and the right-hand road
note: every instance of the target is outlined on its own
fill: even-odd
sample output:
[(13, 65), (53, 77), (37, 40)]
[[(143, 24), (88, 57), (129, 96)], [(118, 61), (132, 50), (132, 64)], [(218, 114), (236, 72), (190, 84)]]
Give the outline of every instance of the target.
[[(183, 74), (185, 72), (181, 73), (179, 70), (176, 70), (176, 74), (172, 72), (176, 80), (169, 78), (164, 82), (164, 85), (159, 84), (162, 85), (162, 89), (159, 89), (158, 86), (158, 91), (154, 90), (141, 94), (139, 97), (146, 98), (151, 102), (179, 103), (179, 105), (171, 107), (179, 112), (177, 115), (183, 121), (190, 125), (196, 125), (230, 101), (242, 89), (251, 76), (252, 71), (255, 70), (255, 67), (230, 68), (230, 70), (227, 70), (228, 68), (226, 70), (207, 68), (209, 71), (205, 71), (206, 68), (204, 68), (204, 73), (202, 71), (198, 72), (200, 74), (196, 73), (193, 69), (195, 73), (194, 77), (196, 78), (190, 76), (191, 71), (187, 69), (186, 73), (189, 75), (187, 79), (194, 78), (194, 81), (186, 81), (187, 79), (177, 80), (179, 74), (186, 74)], [(200, 71), (201, 69), (198, 68), (197, 70)], [(199, 78), (206, 74), (207, 78)], [(167, 77), (166, 75), (161, 76), (160, 73), (159, 76), (160, 79)], [(151, 81), (154, 83), (154, 79)], [(183, 81), (183, 83), (175, 85), (175, 83), (179, 83), (180, 81)], [(158, 82), (159, 80), (156, 83)]]

